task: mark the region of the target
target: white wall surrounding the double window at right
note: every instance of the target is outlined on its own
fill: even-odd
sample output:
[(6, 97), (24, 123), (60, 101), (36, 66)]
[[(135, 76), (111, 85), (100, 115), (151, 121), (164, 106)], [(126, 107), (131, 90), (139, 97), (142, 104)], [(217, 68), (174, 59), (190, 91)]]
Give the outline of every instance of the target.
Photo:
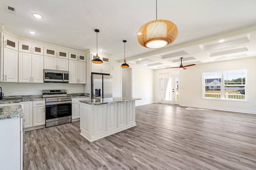
[[(256, 57), (197, 64), (180, 72), (180, 105), (256, 114)], [(202, 73), (247, 69), (248, 101), (202, 98)]]

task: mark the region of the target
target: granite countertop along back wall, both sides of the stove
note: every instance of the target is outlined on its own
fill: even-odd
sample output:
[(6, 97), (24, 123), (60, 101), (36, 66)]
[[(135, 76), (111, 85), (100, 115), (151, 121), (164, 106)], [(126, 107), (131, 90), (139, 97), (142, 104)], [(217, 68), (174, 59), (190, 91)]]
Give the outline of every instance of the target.
[[(90, 97), (90, 94), (71, 93), (71, 94), (67, 94), (67, 97), (71, 97), (71, 98)], [(20, 103), (24, 101), (39, 101), (39, 100), (45, 100), (45, 98), (43, 98), (42, 95), (4, 96), (4, 99), (0, 100), (0, 104)]]

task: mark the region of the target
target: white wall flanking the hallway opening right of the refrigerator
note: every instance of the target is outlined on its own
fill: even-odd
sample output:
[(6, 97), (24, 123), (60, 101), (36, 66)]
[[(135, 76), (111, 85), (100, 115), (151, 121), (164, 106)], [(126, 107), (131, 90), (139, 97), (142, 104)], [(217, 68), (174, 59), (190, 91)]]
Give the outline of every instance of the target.
[[(136, 105), (145, 105), (154, 101), (154, 70), (127, 63), (132, 68), (132, 97), (141, 98)], [(111, 60), (111, 75), (113, 75), (113, 97), (121, 96), (121, 65)]]

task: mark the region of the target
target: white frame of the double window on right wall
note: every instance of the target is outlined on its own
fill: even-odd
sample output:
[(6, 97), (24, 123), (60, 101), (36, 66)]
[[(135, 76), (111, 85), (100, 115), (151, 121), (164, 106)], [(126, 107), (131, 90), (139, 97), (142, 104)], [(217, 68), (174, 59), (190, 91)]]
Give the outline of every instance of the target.
[[(244, 77), (245, 77), (245, 82), (241, 82), (240, 85), (228, 85), (225, 83), (225, 73), (227, 72), (236, 72), (236, 71), (241, 71), (243, 72), (244, 71)], [(213, 85), (213, 84), (209, 84), (209, 85), (206, 85), (206, 82), (205, 82), (205, 77), (206, 77), (206, 73), (216, 73), (216, 75), (218, 75), (220, 73), (221, 75), (221, 82), (220, 84), (216, 84), (216, 85)], [(242, 76), (243, 78), (243, 76)], [(245, 94), (244, 94), (244, 99), (232, 99), (232, 98), (225, 98), (225, 87), (242, 87), (243, 89), (245, 89)], [(206, 92), (206, 87), (208, 87), (208, 89), (210, 89), (211, 87), (215, 87), (216, 89), (220, 89), (220, 97), (205, 97), (205, 92)], [(220, 87), (220, 88), (219, 88)], [(211, 72), (203, 72), (202, 73), (202, 99), (210, 99), (210, 100), (225, 100), (225, 101), (247, 101), (248, 99), (248, 77), (247, 77), (247, 70), (246, 69), (239, 69), (239, 70), (229, 70), (229, 71), (211, 71)], [(230, 93), (232, 94), (232, 93)], [(234, 93), (236, 94), (236, 93)]]

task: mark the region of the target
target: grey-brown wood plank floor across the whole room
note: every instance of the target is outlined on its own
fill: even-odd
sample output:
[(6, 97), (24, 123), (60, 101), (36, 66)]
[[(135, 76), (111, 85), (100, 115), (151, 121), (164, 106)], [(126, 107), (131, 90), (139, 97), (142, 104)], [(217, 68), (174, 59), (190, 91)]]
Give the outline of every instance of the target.
[(256, 115), (155, 103), (136, 123), (91, 143), (79, 121), (25, 132), (24, 170), (256, 170)]

